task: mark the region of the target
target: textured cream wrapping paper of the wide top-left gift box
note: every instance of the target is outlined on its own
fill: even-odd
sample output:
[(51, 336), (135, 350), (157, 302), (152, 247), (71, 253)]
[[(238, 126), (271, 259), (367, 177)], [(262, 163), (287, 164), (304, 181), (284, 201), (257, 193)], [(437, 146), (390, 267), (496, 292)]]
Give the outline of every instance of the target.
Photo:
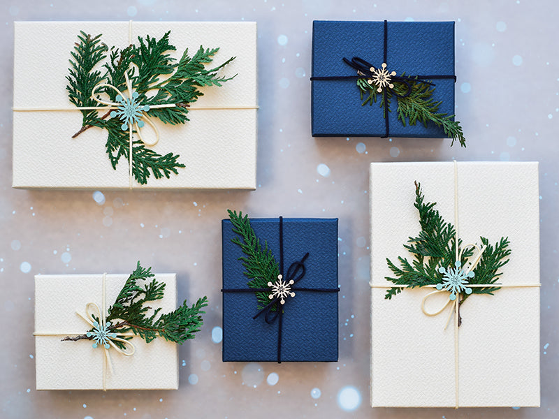
[[(107, 45), (126, 47), (129, 22), (15, 22), (13, 106), (13, 186), (18, 188), (128, 188), (128, 159), (113, 170), (106, 154), (107, 131), (90, 128), (71, 138), (82, 126), (82, 113), (21, 112), (20, 108), (74, 108), (68, 101), (68, 60), (80, 30), (103, 34)], [(256, 23), (255, 22), (132, 22), (138, 36), (158, 39), (166, 31), (180, 59), (203, 47), (219, 47), (212, 64), (225, 66), (220, 75), (233, 80), (222, 87), (203, 87), (191, 104), (186, 124), (163, 124), (160, 154), (180, 154), (186, 167), (170, 179), (155, 179), (134, 188), (255, 189), (256, 187)], [(212, 65), (209, 64), (209, 65)], [(231, 108), (195, 110), (195, 108)], [(252, 109), (233, 109), (252, 107)], [(148, 129), (148, 128), (146, 128)], [(149, 128), (151, 129), (151, 128)]]

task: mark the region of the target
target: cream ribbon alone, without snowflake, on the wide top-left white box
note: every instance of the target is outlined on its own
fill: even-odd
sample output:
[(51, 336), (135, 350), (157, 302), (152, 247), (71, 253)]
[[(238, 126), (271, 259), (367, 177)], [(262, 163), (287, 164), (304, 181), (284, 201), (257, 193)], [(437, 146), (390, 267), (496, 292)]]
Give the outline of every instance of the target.
[[(131, 44), (132, 43), (132, 21), (129, 21), (129, 25), (128, 25), (128, 43)], [(127, 71), (124, 73), (124, 78), (126, 78), (126, 89), (129, 92), (129, 99), (133, 98), (133, 91), (132, 91), (132, 85), (131, 82), (128, 78), (128, 73)], [(101, 84), (97, 84), (93, 89), (92, 89), (92, 96), (91, 98), (96, 101), (97, 103), (101, 103), (103, 105), (107, 105), (105, 107), (99, 107), (99, 106), (74, 106), (73, 108), (12, 108), (12, 110), (14, 112), (37, 112), (37, 111), (56, 111), (56, 110), (111, 110), (111, 109), (117, 109), (120, 106), (122, 106), (120, 103), (115, 103), (115, 102), (107, 102), (107, 101), (101, 101), (101, 99), (98, 99), (95, 97), (95, 92), (97, 89), (101, 88), (101, 87), (109, 87), (110, 89), (114, 89), (115, 91), (118, 92), (118, 94), (122, 97), (122, 98), (126, 98), (124, 96), (124, 94), (122, 94), (115, 86), (112, 86), (112, 84), (108, 84), (108, 83), (101, 83)], [(175, 103), (164, 103), (161, 105), (150, 105), (150, 109), (155, 109), (155, 108), (175, 108), (176, 104)], [(224, 107), (219, 107), (219, 106), (207, 106), (207, 107), (194, 107), (194, 108), (190, 108), (189, 110), (237, 110), (237, 109), (259, 109), (258, 106), (224, 106)], [(157, 127), (155, 126), (155, 124), (150, 120), (149, 117), (147, 117), (147, 114), (145, 113), (147, 112), (147, 110), (141, 112), (142, 113), (142, 119), (145, 119), (145, 121), (150, 124), (152, 126), (152, 128), (154, 128), (155, 134), (156, 134), (156, 140), (154, 142), (147, 142), (144, 140), (144, 138), (142, 137), (140, 131), (139, 131), (139, 126), (136, 122), (134, 122), (133, 126), (136, 128), (136, 133), (138, 133), (138, 137), (140, 137), (140, 141), (143, 142), (145, 145), (147, 145), (148, 147), (154, 146), (157, 144), (157, 142), (159, 141), (159, 131), (157, 130)], [(129, 153), (128, 153), (128, 177), (129, 177), (129, 189), (133, 188), (133, 175), (132, 175), (132, 124), (129, 124)]]

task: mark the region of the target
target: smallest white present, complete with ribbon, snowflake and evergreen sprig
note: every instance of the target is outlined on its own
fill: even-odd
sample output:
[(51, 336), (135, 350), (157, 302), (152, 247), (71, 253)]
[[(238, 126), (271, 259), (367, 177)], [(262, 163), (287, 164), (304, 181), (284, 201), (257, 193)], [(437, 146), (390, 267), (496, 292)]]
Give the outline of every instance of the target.
[(36, 275), (37, 390), (175, 390), (177, 343), (205, 297), (178, 308), (175, 274)]

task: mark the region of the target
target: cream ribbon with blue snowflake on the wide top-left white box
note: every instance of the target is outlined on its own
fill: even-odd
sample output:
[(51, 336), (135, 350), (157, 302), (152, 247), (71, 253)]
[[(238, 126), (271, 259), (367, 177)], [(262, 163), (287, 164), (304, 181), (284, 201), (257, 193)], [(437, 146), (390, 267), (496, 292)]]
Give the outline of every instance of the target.
[[(128, 25), (128, 43), (131, 45), (132, 43), (132, 21), (129, 21), (129, 25)], [(132, 65), (132, 64), (131, 64)], [(122, 128), (123, 131), (126, 131), (127, 129), (129, 129), (129, 156), (128, 156), (128, 165), (129, 165), (129, 189), (133, 189), (133, 173), (132, 173), (132, 168), (133, 168), (133, 160), (132, 160), (132, 155), (133, 155), (133, 128), (135, 128), (136, 133), (138, 133), (138, 137), (140, 138), (140, 141), (144, 143), (144, 145), (146, 145), (147, 147), (152, 147), (154, 145), (157, 144), (157, 142), (159, 142), (159, 131), (157, 130), (157, 126), (155, 126), (155, 124), (150, 120), (149, 117), (147, 117), (147, 113), (150, 109), (155, 109), (155, 108), (175, 108), (176, 104), (175, 103), (163, 103), (161, 105), (139, 105), (136, 103), (136, 98), (138, 98), (138, 93), (133, 91), (132, 89), (132, 84), (129, 80), (128, 77), (128, 71), (124, 72), (124, 78), (126, 79), (126, 89), (129, 92), (129, 96), (126, 98), (126, 96), (124, 96), (124, 94), (122, 94), (121, 91), (119, 91), (119, 89), (117, 89), (117, 87), (112, 86), (112, 84), (108, 84), (108, 83), (101, 83), (101, 84), (97, 84), (93, 89), (92, 89), (92, 96), (91, 98), (96, 101), (97, 103), (101, 103), (102, 105), (106, 105), (104, 107), (100, 107), (100, 106), (74, 106), (73, 108), (13, 108), (12, 110), (14, 112), (36, 112), (36, 111), (57, 111), (57, 110), (98, 110), (98, 111), (102, 111), (102, 110), (117, 110), (116, 112), (110, 112), (110, 116), (111, 117), (119, 117), (119, 119), (121, 119), (124, 124), (122, 124)], [(119, 96), (117, 96), (117, 101), (119, 103), (115, 103), (115, 102), (108, 102), (108, 101), (102, 101), (99, 98), (96, 98), (95, 94), (96, 91), (98, 89), (100, 89), (101, 87), (108, 87), (110, 89), (113, 89), (115, 91), (117, 91), (117, 93), (119, 94)], [(119, 99), (120, 97), (120, 99)], [(219, 106), (208, 106), (208, 107), (193, 107), (190, 108), (189, 110), (235, 110), (235, 109), (258, 109), (258, 106), (234, 106), (234, 107), (219, 107)], [(141, 121), (140, 119), (145, 119), (145, 121), (150, 124), (150, 126), (152, 126), (152, 128), (155, 131), (155, 135), (156, 135), (156, 139), (154, 142), (147, 142), (143, 136), (140, 133), (139, 128), (142, 128), (144, 126), (144, 122)], [(124, 128), (124, 126), (126, 126), (126, 128)]]

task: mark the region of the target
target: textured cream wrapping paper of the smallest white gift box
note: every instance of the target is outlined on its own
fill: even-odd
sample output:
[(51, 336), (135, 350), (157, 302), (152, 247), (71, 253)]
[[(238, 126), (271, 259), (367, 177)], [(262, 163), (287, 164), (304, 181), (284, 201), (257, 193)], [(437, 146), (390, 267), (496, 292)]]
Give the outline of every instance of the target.
[[(116, 297), (129, 275), (106, 275), (107, 307)], [(164, 282), (165, 297), (150, 302), (168, 313), (177, 307), (175, 274), (156, 274)], [(102, 348), (92, 348), (92, 341), (61, 341), (68, 335), (82, 335), (90, 326), (76, 314), (85, 314), (88, 302), (101, 307), (103, 275), (36, 275), (35, 332), (59, 335), (35, 337), (37, 390), (101, 390), (103, 388)], [(149, 344), (136, 336), (131, 339), (136, 353), (124, 356), (109, 349), (112, 374), (106, 372), (107, 390), (143, 390), (178, 388), (178, 347), (158, 337)]]

